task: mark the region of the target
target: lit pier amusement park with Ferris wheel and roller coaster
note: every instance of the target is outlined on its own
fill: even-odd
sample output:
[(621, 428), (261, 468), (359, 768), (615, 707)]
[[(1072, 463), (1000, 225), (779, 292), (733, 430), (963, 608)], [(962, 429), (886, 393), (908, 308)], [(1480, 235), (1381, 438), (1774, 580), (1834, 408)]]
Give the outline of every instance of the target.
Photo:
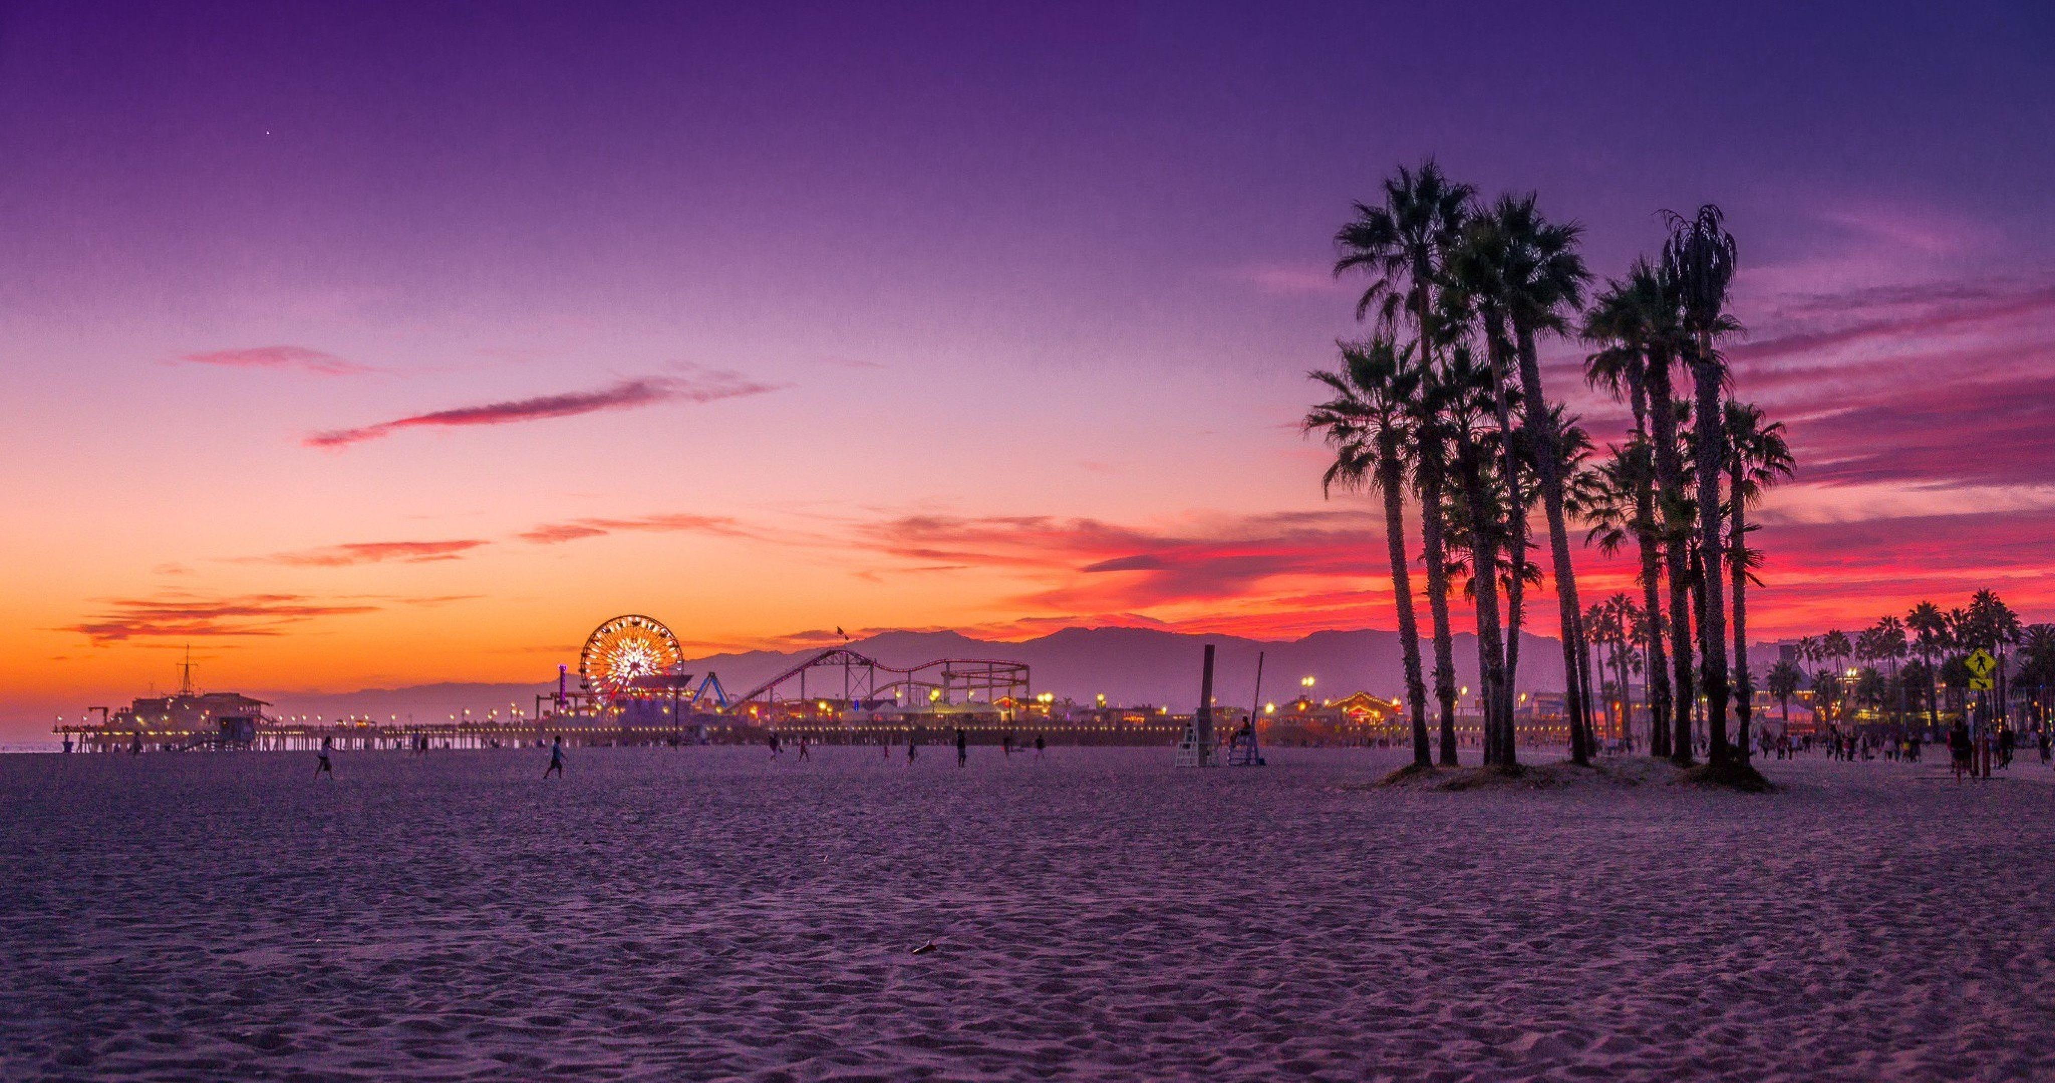
[(1184, 725), (1167, 711), (1058, 715), (1052, 695), (1034, 695), (1021, 662), (941, 658), (898, 668), (849, 647), (822, 649), (732, 697), (717, 674), (684, 672), (678, 637), (639, 614), (594, 629), (580, 651), (577, 686), (559, 666), (557, 690), (534, 707), (536, 732), (575, 744), (754, 744), (773, 732), (820, 744), (902, 744), (956, 730), (980, 744), (1005, 734), (1167, 744)]

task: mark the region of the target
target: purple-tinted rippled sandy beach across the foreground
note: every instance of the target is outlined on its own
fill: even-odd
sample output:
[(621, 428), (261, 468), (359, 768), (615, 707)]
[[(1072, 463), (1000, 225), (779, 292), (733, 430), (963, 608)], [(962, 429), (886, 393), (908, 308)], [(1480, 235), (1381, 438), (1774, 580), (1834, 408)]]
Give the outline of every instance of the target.
[(2039, 762), (947, 752), (0, 756), (0, 1077), (2055, 1077)]

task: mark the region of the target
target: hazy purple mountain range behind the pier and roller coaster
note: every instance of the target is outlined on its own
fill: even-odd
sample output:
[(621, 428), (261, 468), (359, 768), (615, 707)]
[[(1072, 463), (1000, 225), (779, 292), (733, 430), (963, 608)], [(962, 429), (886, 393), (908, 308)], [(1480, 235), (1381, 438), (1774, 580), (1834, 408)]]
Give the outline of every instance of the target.
[[(1299, 680), (1315, 678), (1317, 697), (1342, 697), (1367, 690), (1395, 697), (1406, 688), (1393, 631), (1317, 631), (1293, 641), (1262, 641), (1239, 635), (1186, 635), (1157, 629), (1062, 629), (1023, 643), (972, 639), (956, 631), (888, 631), (857, 639), (849, 647), (886, 666), (919, 666), (937, 658), (991, 658), (1025, 662), (1036, 693), (1054, 693), (1077, 703), (1106, 695), (1118, 705), (1163, 705), (1186, 711), (1198, 699), (1198, 668), (1202, 645), (1215, 643), (1215, 697), (1227, 705), (1245, 705), (1256, 695), (1256, 653), (1264, 651), (1264, 699), (1284, 703), (1299, 695)], [(695, 676), (717, 672), (730, 695), (744, 695), (781, 670), (820, 653), (742, 651), (715, 653), (686, 662)], [(1755, 653), (1755, 651), (1751, 651)], [(1432, 666), (1432, 645), (1422, 641), (1422, 662)], [(573, 678), (575, 680), (575, 678)], [(1455, 637), (1455, 680), (1478, 688), (1478, 643), (1471, 635)], [(1539, 635), (1521, 635), (1521, 690), (1562, 688), (1562, 645)], [(419, 719), (444, 717), (471, 709), (475, 715), (510, 703), (532, 709), (536, 695), (555, 688), (540, 684), (419, 684), (411, 688), (366, 688), (358, 693), (253, 693), (269, 699), (275, 711), (306, 715), (399, 715)]]

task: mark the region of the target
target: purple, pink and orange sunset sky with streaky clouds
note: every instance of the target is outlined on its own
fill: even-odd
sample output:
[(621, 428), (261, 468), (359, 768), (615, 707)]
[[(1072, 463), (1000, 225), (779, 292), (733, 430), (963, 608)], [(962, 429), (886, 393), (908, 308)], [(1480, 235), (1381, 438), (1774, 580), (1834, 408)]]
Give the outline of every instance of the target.
[(1802, 466), (1751, 633), (2055, 619), (2055, 8), (721, 8), (0, 2), (0, 736), (187, 643), (1391, 627), (1297, 419), (1334, 230), (1426, 156), (1599, 275), (1726, 210)]

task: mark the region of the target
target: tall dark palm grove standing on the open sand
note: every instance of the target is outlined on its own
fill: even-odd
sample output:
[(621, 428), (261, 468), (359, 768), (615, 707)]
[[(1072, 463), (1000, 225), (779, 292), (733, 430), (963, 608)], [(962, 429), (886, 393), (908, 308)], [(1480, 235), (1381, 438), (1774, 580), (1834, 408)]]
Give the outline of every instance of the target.
[[(1408, 508), (1420, 516), (1443, 764), (1455, 764), (1457, 582), (1478, 631), (1484, 762), (1517, 762), (1519, 631), (1527, 594), (1543, 582), (1531, 555), (1535, 506), (1562, 629), (1570, 758), (1589, 762), (1601, 713), (1593, 645), (1605, 651), (1599, 684), (1611, 678), (1621, 723), (1630, 680), (1646, 674), (1652, 752), (1691, 762), (1677, 719), (1689, 719), (1702, 695), (1710, 758), (1747, 754), (1747, 656), (1736, 647), (1741, 727), (1730, 740), (1726, 643), (1728, 633), (1745, 643), (1745, 592), (1759, 563), (1745, 545), (1747, 510), (1790, 477), (1792, 456), (1780, 423), (1726, 395), (1720, 345), (1739, 333), (1726, 310), (1736, 247), (1720, 210), (1665, 218), (1658, 259), (1636, 261), (1597, 294), (1578, 255), (1580, 226), (1547, 220), (1533, 195), (1486, 201), (1434, 162), (1385, 179), (1383, 197), (1356, 203), (1336, 234), (1334, 271), (1367, 277), (1356, 319), (1373, 331), (1340, 343), (1334, 370), (1311, 374), (1330, 397), (1305, 430), (1334, 448), (1325, 489), (1383, 497), (1416, 767), (1432, 767), (1434, 754)], [(1634, 432), (1605, 460), (1545, 395), (1547, 337), (1589, 343), (1586, 378), (1632, 409)], [(1687, 376), (1689, 399), (1677, 397), (1673, 376)], [(1584, 612), (1572, 520), (1605, 551), (1638, 547), (1638, 604), (1615, 596)]]

